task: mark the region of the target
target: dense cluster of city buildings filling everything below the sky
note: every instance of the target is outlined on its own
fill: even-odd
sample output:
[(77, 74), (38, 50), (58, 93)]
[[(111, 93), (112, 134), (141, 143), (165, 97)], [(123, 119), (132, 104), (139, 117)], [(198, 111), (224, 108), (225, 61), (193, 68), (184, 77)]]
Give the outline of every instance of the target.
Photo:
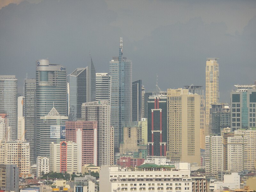
[(0, 191), (256, 190), (256, 84), (220, 103), (217, 58), (205, 91), (192, 80), (147, 91), (122, 37), (108, 72), (91, 55), (69, 75), (48, 59), (35, 67), (22, 94), (15, 75), (0, 75)]

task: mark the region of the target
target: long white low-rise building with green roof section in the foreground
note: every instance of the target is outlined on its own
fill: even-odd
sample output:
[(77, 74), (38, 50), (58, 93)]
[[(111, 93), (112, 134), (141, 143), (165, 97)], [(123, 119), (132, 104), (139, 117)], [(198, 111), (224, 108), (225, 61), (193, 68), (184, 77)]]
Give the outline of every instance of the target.
[(192, 191), (188, 163), (142, 164), (135, 171), (121, 167), (101, 167), (100, 192), (105, 191)]

